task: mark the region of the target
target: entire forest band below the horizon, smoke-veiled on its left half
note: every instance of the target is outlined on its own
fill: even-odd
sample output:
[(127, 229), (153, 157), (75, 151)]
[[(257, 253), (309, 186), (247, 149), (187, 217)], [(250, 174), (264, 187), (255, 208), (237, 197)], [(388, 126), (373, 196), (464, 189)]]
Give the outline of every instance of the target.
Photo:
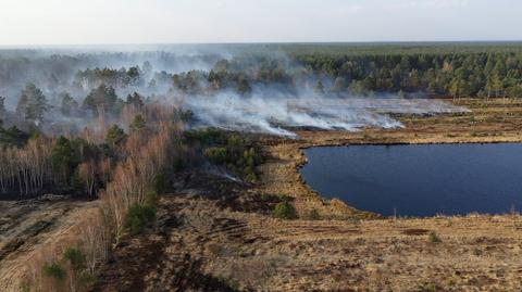
[[(213, 49), (233, 58), (220, 58)], [(101, 85), (116, 90), (172, 87), (187, 93), (232, 89), (248, 94), (259, 85), (299, 89), (311, 80), (326, 93), (402, 90), (514, 97), (521, 91), (518, 42), (231, 45), (189, 52), (2, 51), (0, 94), (12, 99), (27, 82), (51, 100), (63, 91), (78, 100)]]

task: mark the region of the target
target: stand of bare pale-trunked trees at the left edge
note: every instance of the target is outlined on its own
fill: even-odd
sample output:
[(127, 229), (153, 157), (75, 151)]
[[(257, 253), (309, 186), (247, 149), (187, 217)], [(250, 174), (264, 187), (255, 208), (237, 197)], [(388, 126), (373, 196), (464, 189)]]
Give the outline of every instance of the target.
[(0, 140), (0, 194), (26, 198), (55, 192), (94, 196), (107, 182), (115, 161), (108, 145), (80, 137), (55, 139), (20, 132), (25, 141), (18, 144)]

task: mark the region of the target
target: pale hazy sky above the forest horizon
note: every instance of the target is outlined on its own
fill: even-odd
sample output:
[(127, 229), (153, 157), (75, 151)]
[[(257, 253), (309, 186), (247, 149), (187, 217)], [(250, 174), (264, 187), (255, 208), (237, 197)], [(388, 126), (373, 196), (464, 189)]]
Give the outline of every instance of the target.
[(0, 45), (522, 40), (520, 0), (0, 0)]

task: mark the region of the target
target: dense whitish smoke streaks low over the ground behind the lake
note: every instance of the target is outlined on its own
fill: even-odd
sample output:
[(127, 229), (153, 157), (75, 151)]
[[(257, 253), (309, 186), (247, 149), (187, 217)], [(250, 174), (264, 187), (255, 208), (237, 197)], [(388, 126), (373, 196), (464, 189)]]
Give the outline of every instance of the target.
[[(266, 92), (269, 93), (269, 92)], [(296, 136), (287, 128), (312, 127), (355, 131), (362, 127), (399, 128), (388, 114), (439, 114), (467, 112), (439, 100), (399, 98), (312, 98), (258, 93), (250, 98), (235, 93), (192, 97), (183, 105), (192, 111), (199, 126), (228, 130)]]

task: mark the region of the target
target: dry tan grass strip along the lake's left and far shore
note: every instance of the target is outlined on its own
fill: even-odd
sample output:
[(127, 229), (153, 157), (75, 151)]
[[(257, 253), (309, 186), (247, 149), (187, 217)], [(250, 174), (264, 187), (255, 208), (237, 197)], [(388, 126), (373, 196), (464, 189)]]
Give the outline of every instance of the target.
[[(338, 199), (327, 200), (306, 183), (299, 169), (307, 164), (303, 150), (314, 147), (406, 145), (522, 142), (522, 101), (462, 99), (457, 105), (469, 113), (433, 116), (401, 116), (405, 128), (365, 128), (357, 132), (300, 130), (297, 140), (278, 140), (263, 145), (270, 161), (260, 167), (262, 191), (295, 198), (300, 217), (318, 211), (324, 218), (383, 218), (359, 211)], [(507, 106), (508, 105), (508, 106)], [(509, 117), (506, 118), (506, 117)], [(428, 217), (427, 217), (428, 218)]]

